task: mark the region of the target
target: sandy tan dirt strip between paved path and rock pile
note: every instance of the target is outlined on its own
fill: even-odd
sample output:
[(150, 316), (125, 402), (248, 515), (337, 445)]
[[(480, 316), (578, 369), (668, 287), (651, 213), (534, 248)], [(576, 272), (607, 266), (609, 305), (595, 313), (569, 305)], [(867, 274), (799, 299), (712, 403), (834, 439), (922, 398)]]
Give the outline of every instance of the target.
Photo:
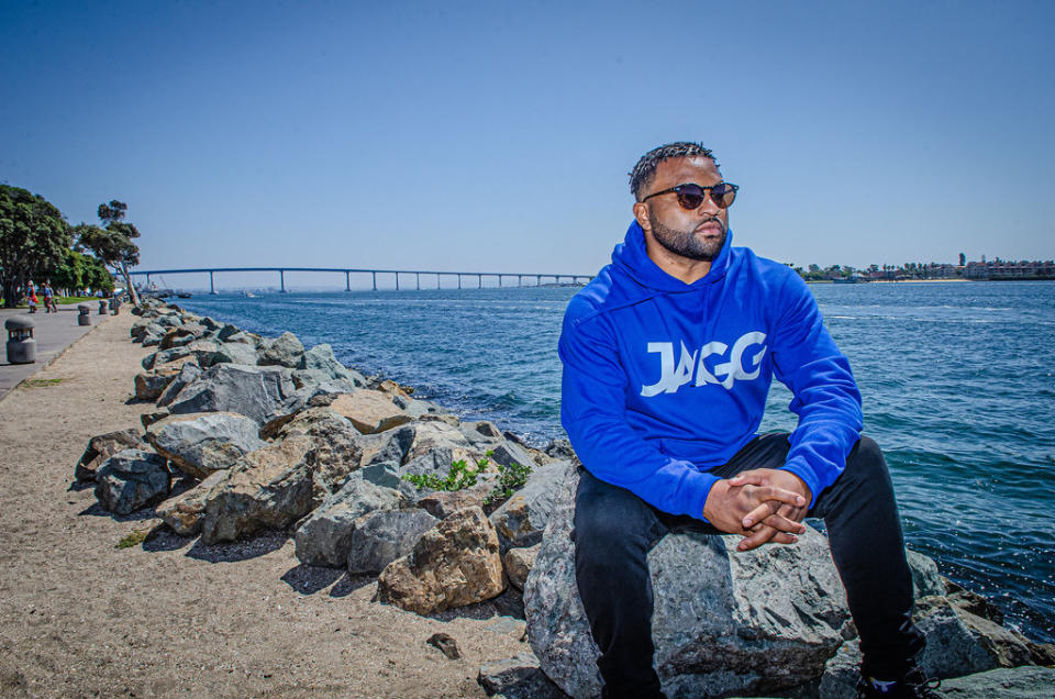
[[(528, 648), (490, 603), (422, 618), (370, 578), (309, 568), (276, 534), (204, 546), (71, 488), (89, 437), (140, 426), (147, 350), (108, 318), (0, 400), (0, 697), (482, 697)], [(453, 636), (460, 659), (426, 644)]]

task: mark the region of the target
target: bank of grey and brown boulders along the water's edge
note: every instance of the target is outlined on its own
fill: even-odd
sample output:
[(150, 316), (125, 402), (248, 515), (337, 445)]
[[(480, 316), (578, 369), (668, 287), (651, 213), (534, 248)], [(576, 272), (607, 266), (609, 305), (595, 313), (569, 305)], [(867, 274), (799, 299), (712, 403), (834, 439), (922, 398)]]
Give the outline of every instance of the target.
[[(566, 442), (536, 450), (488, 421), (463, 423), (291, 333), (266, 340), (159, 301), (137, 312), (131, 336), (156, 350), (135, 397), (156, 409), (143, 429), (93, 437), (76, 465), (100, 507), (153, 508), (164, 525), (148, 536), (292, 536), (303, 565), (376, 575), (378, 601), (418, 614), (492, 600), (526, 618), (534, 655), (486, 664), (485, 691), (597, 694), (570, 575), (577, 463)], [(854, 696), (855, 631), (823, 536), (752, 556), (729, 553), (725, 537), (668, 539), (653, 552), (653, 582), (669, 696)], [(774, 573), (778, 558), (808, 580)], [(945, 679), (949, 696), (1055, 691), (1055, 648), (1002, 628), (998, 610), (930, 559), (912, 563), (924, 665), (962, 678)], [(687, 617), (685, 599), (718, 613)], [(456, 654), (448, 641), (434, 645)], [(1011, 694), (1014, 683), (1042, 694)]]

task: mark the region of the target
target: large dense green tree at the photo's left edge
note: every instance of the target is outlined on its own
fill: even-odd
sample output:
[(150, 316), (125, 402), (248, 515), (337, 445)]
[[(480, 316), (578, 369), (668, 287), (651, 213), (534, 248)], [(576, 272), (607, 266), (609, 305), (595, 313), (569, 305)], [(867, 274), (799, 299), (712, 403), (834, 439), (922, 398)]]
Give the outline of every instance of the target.
[(19, 303), (19, 291), (35, 275), (63, 259), (69, 246), (69, 224), (40, 195), (0, 185), (0, 286), (7, 308)]

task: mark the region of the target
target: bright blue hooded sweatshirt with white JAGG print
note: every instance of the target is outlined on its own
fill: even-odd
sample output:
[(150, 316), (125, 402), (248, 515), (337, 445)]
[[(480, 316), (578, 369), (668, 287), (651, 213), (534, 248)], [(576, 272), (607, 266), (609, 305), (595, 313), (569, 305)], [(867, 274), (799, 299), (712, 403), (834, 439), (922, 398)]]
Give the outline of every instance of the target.
[[(799, 417), (784, 468), (815, 498), (860, 435), (860, 393), (813, 295), (786, 265), (732, 246), (685, 284), (634, 222), (612, 264), (568, 303), (560, 417), (595, 476), (703, 518), (725, 464), (758, 430), (773, 376)], [(812, 504), (812, 503), (811, 503)]]

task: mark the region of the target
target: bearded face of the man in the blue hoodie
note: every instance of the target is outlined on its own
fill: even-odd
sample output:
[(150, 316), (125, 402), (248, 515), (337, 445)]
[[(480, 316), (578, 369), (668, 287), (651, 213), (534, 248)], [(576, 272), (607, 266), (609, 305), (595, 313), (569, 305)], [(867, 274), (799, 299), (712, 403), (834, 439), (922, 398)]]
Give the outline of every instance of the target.
[[(656, 167), (656, 173), (642, 197), (678, 185), (691, 182), (711, 187), (721, 181), (722, 175), (711, 158), (669, 158)], [(638, 213), (638, 222), (646, 234), (651, 233), (668, 252), (697, 260), (711, 262), (718, 257), (725, 243), (729, 210), (715, 204), (710, 196), (692, 211), (682, 209), (674, 192), (659, 195), (637, 204), (641, 206), (646, 207), (647, 215), (643, 218)]]

